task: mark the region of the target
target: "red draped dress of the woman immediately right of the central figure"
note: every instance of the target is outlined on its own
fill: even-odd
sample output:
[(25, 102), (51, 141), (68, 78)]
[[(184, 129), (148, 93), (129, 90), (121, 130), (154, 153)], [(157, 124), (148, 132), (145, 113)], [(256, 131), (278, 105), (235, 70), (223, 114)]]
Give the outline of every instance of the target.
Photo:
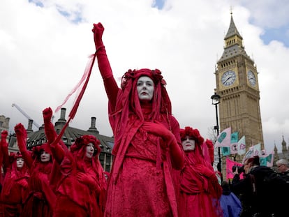
[[(218, 200), (222, 189), (218, 184), (216, 175), (205, 177), (196, 167), (198, 164), (206, 165), (202, 159), (200, 146), (195, 151), (186, 151), (185, 165), (181, 170), (180, 188), (180, 216), (181, 217), (221, 217), (223, 216)], [(213, 169), (211, 168), (213, 171)]]

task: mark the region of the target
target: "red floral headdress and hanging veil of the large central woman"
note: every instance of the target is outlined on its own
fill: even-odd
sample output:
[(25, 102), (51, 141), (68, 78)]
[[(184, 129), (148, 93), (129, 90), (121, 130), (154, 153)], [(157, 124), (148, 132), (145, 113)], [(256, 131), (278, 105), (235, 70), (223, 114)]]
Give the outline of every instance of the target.
[[(115, 142), (113, 154), (117, 153), (121, 137), (126, 130), (128, 122), (128, 114), (133, 112), (139, 120), (143, 120), (142, 107), (138, 98), (137, 82), (138, 78), (148, 76), (154, 81), (154, 96), (151, 100), (151, 113), (149, 119), (151, 121), (157, 120), (163, 114), (172, 114), (172, 105), (168, 92), (165, 89), (165, 80), (158, 69), (151, 70), (142, 68), (140, 70), (128, 70), (121, 79), (121, 95), (117, 98), (117, 105), (115, 108), (109, 110), (114, 111), (110, 113), (110, 124), (114, 129)], [(121, 114), (121, 115), (119, 115)]]

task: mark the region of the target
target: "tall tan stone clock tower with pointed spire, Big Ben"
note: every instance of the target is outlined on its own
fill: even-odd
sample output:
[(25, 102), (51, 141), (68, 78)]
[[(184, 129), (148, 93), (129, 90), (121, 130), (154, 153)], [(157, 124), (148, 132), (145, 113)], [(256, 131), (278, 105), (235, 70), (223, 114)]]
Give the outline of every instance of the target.
[(220, 128), (231, 127), (246, 137), (246, 150), (252, 144), (264, 149), (260, 115), (258, 72), (253, 59), (245, 52), (243, 38), (235, 27), (231, 13), (222, 57), (216, 66), (216, 94), (219, 104)]

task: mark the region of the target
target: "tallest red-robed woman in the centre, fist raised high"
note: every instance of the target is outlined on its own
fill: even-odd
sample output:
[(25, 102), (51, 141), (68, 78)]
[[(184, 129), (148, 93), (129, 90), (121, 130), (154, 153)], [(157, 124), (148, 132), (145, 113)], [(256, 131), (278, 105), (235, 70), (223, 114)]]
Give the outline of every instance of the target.
[(184, 153), (161, 71), (128, 70), (119, 89), (103, 31), (101, 23), (94, 24), (98, 68), (114, 133), (105, 216), (177, 216), (172, 167), (181, 169)]

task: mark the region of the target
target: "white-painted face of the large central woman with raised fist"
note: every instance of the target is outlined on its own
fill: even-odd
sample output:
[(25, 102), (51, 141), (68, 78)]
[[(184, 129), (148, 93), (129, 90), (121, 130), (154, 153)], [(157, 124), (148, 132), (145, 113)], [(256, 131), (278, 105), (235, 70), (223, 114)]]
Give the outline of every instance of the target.
[(150, 77), (142, 76), (137, 82), (138, 98), (141, 101), (150, 101), (154, 96), (154, 82)]

